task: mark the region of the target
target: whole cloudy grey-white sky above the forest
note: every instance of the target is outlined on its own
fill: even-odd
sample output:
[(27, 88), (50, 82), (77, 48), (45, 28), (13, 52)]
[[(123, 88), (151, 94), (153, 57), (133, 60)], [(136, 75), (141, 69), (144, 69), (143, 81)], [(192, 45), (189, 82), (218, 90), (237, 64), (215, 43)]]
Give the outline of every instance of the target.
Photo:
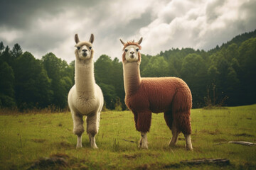
[(172, 47), (209, 50), (256, 29), (256, 0), (0, 0), (0, 41), (41, 59), (75, 59), (74, 35), (94, 33), (95, 60), (121, 59), (122, 40), (143, 37), (142, 53)]

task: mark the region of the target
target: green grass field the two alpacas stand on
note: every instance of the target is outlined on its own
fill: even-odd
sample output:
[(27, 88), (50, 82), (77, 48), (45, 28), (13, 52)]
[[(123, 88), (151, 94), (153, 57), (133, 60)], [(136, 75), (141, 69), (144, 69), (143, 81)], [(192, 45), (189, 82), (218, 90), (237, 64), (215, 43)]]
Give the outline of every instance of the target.
[[(227, 143), (256, 142), (256, 105), (193, 109), (191, 119), (193, 152), (186, 151), (182, 134), (176, 147), (168, 147), (171, 131), (162, 113), (152, 116), (146, 150), (137, 147), (140, 135), (129, 111), (102, 113), (99, 149), (90, 148), (85, 133), (83, 148), (75, 149), (70, 113), (0, 115), (0, 169), (41, 169), (36, 162), (46, 157), (66, 161), (65, 166), (49, 164), (51, 169), (256, 169), (256, 146)], [(180, 164), (202, 158), (226, 158), (230, 164)]]

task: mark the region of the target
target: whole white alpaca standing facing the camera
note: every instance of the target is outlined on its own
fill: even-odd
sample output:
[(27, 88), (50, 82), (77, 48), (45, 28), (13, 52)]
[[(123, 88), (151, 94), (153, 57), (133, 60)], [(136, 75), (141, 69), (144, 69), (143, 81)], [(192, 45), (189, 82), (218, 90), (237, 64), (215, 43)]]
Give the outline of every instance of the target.
[(100, 126), (100, 111), (104, 103), (103, 94), (95, 83), (92, 42), (94, 35), (91, 34), (89, 42), (80, 42), (75, 34), (75, 85), (68, 94), (68, 106), (73, 117), (73, 132), (78, 136), (77, 148), (82, 147), (83, 127), (82, 116), (87, 116), (87, 134), (90, 145), (97, 148), (95, 135)]

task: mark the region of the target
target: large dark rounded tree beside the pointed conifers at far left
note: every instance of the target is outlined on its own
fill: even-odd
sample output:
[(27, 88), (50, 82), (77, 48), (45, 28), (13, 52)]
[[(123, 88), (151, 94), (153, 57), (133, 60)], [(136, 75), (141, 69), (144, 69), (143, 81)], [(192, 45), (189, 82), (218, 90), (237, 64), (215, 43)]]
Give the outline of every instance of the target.
[(16, 59), (14, 68), (18, 108), (23, 110), (48, 106), (52, 95), (50, 79), (40, 60), (36, 60), (30, 52), (24, 52)]

